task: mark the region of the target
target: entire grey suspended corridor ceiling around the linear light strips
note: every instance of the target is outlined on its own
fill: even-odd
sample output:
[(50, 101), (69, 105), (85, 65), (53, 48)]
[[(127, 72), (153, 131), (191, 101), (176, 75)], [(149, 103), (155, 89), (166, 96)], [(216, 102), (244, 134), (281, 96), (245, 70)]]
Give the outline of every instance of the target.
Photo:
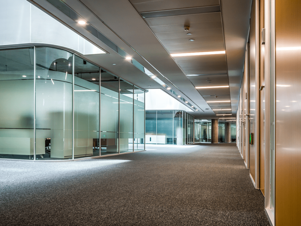
[[(30, 2), (107, 52), (85, 55), (88, 60), (142, 89), (161, 88), (169, 93), (104, 42), (95, 38), (83, 26), (51, 5), (49, 3), (51, 1)], [(200, 119), (213, 119), (223, 118), (216, 114), (230, 113), (230, 117), (236, 118), (251, 0), (65, 0), (64, 2), (197, 107), (199, 111), (192, 112), (192, 115)], [(188, 31), (184, 30), (185, 25), (189, 25)], [(225, 51), (225, 54), (170, 56), (174, 53), (212, 51)], [(195, 88), (199, 86), (229, 87)], [(229, 100), (231, 102), (209, 102)]]

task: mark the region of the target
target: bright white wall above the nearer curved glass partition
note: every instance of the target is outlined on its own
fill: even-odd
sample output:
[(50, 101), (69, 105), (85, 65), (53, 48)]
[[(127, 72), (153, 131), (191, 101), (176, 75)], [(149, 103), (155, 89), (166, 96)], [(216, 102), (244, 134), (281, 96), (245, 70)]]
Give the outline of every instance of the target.
[(81, 54), (105, 53), (26, 0), (1, 1), (0, 46), (45, 43)]

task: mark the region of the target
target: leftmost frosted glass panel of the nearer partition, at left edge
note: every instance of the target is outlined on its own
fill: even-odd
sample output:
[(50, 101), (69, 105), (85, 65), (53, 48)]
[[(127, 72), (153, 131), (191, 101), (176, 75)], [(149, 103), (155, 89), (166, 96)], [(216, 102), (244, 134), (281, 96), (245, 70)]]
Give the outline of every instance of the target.
[(33, 159), (33, 48), (0, 51), (0, 103), (0, 159)]

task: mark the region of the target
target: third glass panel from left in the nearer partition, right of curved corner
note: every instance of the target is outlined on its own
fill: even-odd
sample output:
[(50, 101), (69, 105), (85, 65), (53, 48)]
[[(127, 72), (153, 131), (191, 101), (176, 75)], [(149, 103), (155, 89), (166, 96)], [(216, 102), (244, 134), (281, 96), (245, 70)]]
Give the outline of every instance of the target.
[(99, 156), (99, 67), (74, 56), (74, 158)]

